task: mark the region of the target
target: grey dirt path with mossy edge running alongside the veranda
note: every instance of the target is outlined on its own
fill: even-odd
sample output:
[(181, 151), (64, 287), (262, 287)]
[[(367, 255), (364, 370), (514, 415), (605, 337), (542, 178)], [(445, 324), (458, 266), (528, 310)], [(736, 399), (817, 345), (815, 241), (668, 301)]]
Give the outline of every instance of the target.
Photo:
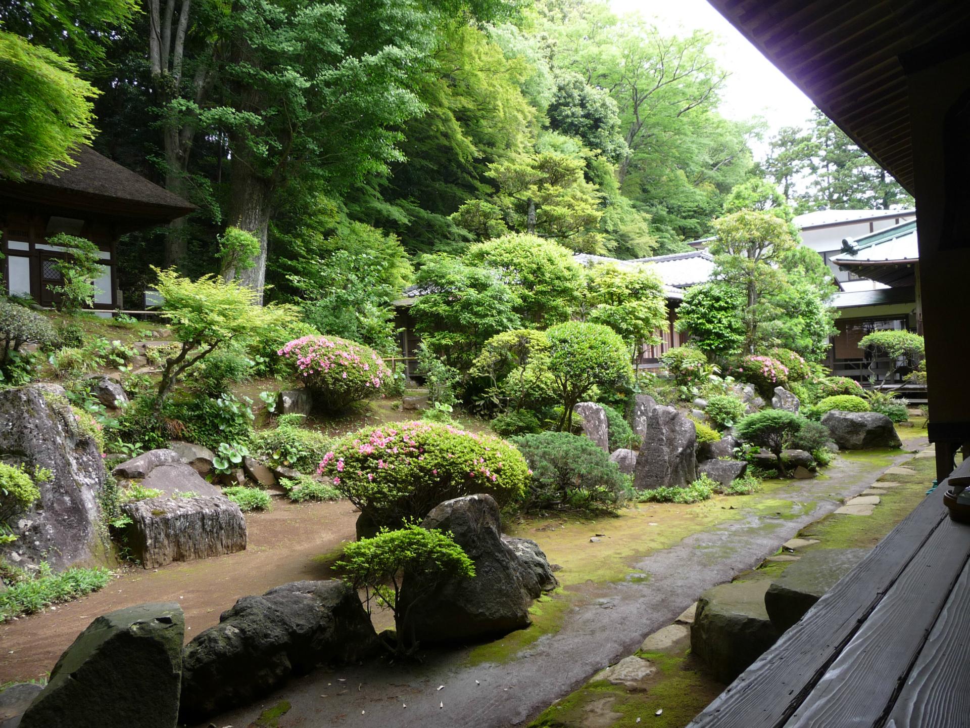
[[(566, 586), (564, 593), (539, 605), (540, 614), (529, 630), (492, 645), (431, 652), (419, 665), (375, 663), (337, 673), (319, 671), (292, 681), (260, 704), (221, 715), (214, 723), (247, 726), (265, 709), (280, 711), (285, 701), (289, 710), (274, 723), (280, 728), (521, 724), (599, 669), (630, 654), (702, 591), (753, 568), (800, 528), (831, 513), (841, 499), (857, 495), (887, 467), (909, 457), (839, 458), (827, 478), (792, 481), (784, 490), (747, 500), (697, 504), (703, 508), (638, 509), (611, 522), (590, 524), (585, 531), (591, 533), (569, 525), (575, 534), (571, 541), (553, 538), (566, 533), (568, 524), (529, 524), (529, 532), (523, 535), (536, 539), (551, 561), (565, 562), (559, 576)], [(722, 512), (720, 521), (714, 517), (716, 510)], [(667, 525), (663, 519), (676, 528), (694, 519), (695, 528), (669, 546), (647, 548), (645, 555), (627, 550), (630, 524), (644, 543), (663, 543), (657, 536)], [(589, 543), (595, 528), (607, 534), (603, 540), (607, 548), (618, 548), (623, 554), (626, 578), (612, 580), (621, 573), (615, 553), (604, 550), (597, 556), (590, 550), (600, 546)], [(614, 544), (609, 543), (610, 534), (616, 534)], [(577, 549), (594, 554), (592, 560), (588, 555), (577, 556)], [(580, 565), (590, 578), (575, 573)], [(532, 641), (536, 634), (540, 636)], [(482, 661), (483, 656), (487, 661)], [(438, 689), (439, 685), (444, 687)]]

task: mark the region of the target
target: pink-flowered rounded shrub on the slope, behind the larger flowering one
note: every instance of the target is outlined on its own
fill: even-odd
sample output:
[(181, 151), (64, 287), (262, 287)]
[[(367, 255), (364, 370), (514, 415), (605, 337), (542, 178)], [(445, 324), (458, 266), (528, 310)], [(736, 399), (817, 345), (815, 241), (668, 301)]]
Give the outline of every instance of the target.
[(393, 379), (376, 351), (345, 339), (305, 336), (276, 353), (294, 361), (313, 393), (313, 403), (329, 412), (376, 397)]

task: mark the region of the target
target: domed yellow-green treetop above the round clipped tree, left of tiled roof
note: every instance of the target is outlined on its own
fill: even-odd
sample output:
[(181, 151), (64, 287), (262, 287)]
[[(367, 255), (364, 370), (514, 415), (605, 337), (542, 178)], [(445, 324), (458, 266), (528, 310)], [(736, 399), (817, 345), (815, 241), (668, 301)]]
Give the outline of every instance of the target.
[(515, 312), (537, 328), (567, 320), (579, 302), (582, 269), (553, 241), (505, 235), (472, 246), (464, 260), (498, 271), (517, 299)]

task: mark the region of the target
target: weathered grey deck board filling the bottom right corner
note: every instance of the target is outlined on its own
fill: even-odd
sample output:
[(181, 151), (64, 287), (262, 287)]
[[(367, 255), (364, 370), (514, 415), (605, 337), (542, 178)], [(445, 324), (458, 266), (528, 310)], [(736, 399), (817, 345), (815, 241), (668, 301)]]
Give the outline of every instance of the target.
[(889, 713), (887, 728), (947, 726), (970, 728), (970, 564), (954, 586), (922, 646), (902, 692)]

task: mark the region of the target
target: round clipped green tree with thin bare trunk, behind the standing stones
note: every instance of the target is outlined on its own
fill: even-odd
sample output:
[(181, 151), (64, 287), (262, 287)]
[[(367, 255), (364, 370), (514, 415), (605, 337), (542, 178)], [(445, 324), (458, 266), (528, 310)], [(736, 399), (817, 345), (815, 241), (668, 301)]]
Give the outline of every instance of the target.
[(549, 373), (564, 408), (558, 429), (568, 431), (573, 408), (594, 386), (609, 389), (630, 381), (630, 353), (618, 334), (598, 323), (561, 323), (546, 337)]

